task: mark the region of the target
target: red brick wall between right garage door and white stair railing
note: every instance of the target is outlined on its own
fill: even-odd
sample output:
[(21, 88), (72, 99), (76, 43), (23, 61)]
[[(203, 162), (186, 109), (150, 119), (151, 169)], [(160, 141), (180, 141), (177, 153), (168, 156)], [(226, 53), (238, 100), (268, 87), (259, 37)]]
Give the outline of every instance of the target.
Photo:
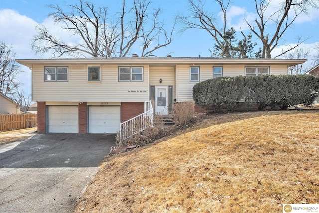
[(144, 112), (144, 102), (121, 102), (121, 122)]

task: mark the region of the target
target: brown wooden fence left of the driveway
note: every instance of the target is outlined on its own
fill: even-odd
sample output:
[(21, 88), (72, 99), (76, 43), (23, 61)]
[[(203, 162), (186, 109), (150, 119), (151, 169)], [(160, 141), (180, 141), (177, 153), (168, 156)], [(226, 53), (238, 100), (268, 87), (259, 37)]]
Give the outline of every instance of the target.
[(34, 114), (0, 114), (0, 132), (31, 128), (38, 125), (38, 115)]

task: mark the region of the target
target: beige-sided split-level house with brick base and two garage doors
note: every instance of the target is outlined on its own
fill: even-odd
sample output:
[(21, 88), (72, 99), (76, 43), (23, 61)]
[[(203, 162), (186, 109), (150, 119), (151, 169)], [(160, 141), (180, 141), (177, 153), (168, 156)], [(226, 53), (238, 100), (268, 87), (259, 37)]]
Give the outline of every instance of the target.
[(191, 101), (192, 88), (210, 78), (288, 74), (306, 60), (226, 58), (26, 59), (32, 69), (32, 101), (39, 133), (115, 133), (120, 122), (145, 111), (168, 114), (176, 102)]

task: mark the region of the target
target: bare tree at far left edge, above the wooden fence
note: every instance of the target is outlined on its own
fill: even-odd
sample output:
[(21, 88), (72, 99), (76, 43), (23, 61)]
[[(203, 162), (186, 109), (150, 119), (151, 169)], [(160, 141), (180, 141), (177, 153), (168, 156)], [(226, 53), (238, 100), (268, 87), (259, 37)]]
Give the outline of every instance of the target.
[(11, 96), (19, 86), (16, 76), (21, 71), (15, 61), (15, 52), (12, 46), (0, 41), (0, 92), (6, 96)]

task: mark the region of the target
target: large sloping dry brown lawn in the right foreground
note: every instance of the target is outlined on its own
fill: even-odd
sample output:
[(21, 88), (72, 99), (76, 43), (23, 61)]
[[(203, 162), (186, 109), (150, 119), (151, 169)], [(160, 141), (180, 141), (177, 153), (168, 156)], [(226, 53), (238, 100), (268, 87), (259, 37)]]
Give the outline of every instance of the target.
[(282, 212), (319, 203), (319, 111), (215, 114), (105, 159), (75, 212)]

